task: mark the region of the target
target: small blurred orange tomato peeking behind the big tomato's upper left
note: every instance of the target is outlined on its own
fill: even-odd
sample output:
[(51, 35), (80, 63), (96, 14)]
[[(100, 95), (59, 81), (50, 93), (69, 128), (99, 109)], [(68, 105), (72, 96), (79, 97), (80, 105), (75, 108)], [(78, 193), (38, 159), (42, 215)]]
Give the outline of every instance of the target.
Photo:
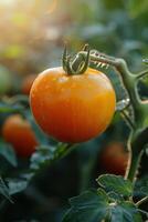
[(22, 82), (22, 93), (23, 94), (30, 94), (30, 90), (31, 90), (31, 87), (34, 82), (36, 78), (36, 74), (30, 74), (28, 77), (24, 78), (23, 82)]

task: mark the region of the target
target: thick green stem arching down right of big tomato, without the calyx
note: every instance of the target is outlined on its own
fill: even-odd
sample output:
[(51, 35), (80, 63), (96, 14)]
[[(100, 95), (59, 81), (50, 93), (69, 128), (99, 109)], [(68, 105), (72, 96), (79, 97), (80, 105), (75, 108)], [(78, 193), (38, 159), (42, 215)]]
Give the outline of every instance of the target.
[[(78, 52), (77, 59), (81, 59), (81, 56), (86, 57), (86, 52), (85, 51)], [(130, 120), (126, 118), (126, 120), (129, 122), (131, 127), (131, 135), (133, 135), (133, 138), (130, 137), (129, 141), (130, 158), (126, 171), (126, 178), (134, 182), (139, 165), (139, 161), (144, 152), (142, 151), (144, 147), (148, 142), (148, 137), (147, 137), (148, 128), (146, 123), (148, 104), (140, 100), (137, 89), (137, 79), (144, 77), (147, 71), (144, 71), (139, 75), (136, 75), (128, 70), (127, 63), (125, 62), (124, 59), (108, 57), (97, 51), (91, 52), (89, 61), (96, 64), (104, 63), (114, 67), (116, 71), (119, 73), (119, 77), (125, 85), (125, 89), (128, 92), (130, 104), (134, 111), (135, 125), (133, 125)]]

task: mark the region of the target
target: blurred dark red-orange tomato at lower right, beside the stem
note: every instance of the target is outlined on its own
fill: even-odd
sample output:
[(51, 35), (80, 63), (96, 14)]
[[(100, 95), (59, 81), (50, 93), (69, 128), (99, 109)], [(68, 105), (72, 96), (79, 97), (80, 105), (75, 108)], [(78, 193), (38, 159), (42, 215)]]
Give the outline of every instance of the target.
[(128, 162), (128, 152), (120, 142), (112, 142), (101, 155), (101, 165), (108, 173), (125, 175)]

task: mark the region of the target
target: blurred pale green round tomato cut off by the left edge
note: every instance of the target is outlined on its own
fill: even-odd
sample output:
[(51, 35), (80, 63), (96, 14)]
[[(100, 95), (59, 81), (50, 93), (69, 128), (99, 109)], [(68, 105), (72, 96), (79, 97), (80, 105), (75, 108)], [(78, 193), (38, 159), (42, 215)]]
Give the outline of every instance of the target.
[(11, 73), (9, 70), (2, 65), (0, 65), (0, 95), (6, 94), (10, 91), (11, 84)]

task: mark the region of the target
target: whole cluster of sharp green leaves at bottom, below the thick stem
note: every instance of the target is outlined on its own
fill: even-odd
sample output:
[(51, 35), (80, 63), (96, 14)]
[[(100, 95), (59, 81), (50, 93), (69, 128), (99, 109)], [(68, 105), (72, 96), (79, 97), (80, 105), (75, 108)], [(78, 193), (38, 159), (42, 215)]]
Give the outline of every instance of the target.
[[(70, 200), (71, 209), (63, 222), (68, 221), (131, 221), (140, 222), (137, 206), (126, 198), (131, 196), (133, 184), (121, 176), (101, 175), (97, 191), (85, 191)], [(123, 185), (123, 186), (120, 186)]]

